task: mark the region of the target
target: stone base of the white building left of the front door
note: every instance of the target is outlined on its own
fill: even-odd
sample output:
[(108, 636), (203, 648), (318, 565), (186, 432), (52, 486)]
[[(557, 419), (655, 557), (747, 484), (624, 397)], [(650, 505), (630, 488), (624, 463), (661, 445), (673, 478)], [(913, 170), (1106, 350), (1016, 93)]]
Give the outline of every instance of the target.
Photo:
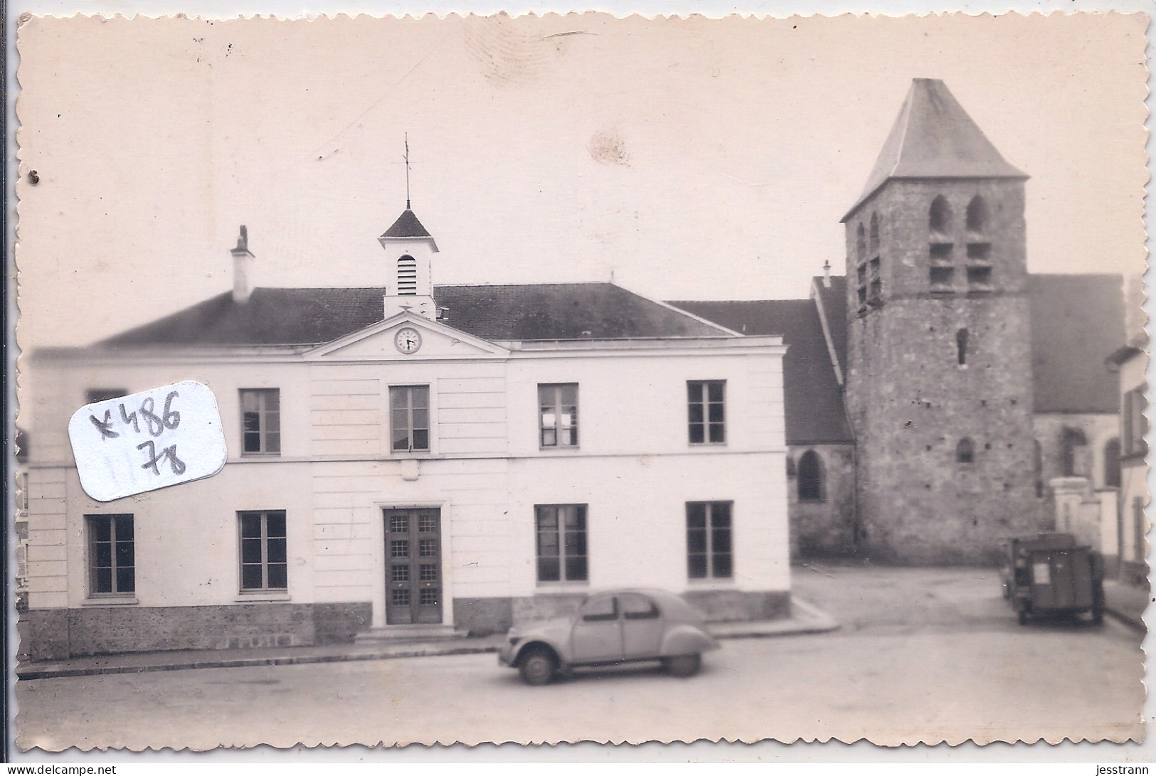
[(353, 642), (371, 605), (232, 604), (224, 606), (29, 609), (34, 660), (164, 650), (306, 646)]

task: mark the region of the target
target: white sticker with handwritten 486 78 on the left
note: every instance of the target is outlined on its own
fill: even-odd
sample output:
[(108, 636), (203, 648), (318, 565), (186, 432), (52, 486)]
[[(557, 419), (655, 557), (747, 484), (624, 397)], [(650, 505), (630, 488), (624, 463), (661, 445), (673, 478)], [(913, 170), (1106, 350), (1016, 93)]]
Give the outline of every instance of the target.
[(191, 380), (84, 405), (68, 438), (81, 487), (97, 501), (212, 476), (229, 454), (216, 397)]

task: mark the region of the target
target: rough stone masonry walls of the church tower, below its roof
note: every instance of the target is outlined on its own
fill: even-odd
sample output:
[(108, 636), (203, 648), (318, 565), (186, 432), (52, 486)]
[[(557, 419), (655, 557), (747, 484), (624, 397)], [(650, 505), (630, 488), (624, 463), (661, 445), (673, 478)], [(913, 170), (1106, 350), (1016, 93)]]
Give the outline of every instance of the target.
[[(964, 231), (968, 202), (988, 202), (983, 235)], [(954, 212), (928, 229), (932, 200)], [(857, 296), (860, 220), (880, 216), (883, 295)], [(1017, 180), (892, 180), (849, 221), (847, 401), (859, 453), (868, 553), (906, 563), (991, 563), (1002, 538), (1040, 524), (1035, 494), (1023, 190)], [(933, 294), (929, 243), (956, 246), (955, 289)], [(969, 291), (964, 246), (991, 244), (992, 289)], [(957, 332), (968, 330), (965, 363)], [(971, 439), (973, 460), (957, 445)]]

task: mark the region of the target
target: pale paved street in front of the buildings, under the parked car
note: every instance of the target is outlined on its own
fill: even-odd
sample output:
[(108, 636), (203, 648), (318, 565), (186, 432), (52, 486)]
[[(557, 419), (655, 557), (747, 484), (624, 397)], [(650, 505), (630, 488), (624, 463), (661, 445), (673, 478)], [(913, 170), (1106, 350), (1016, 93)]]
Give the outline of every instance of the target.
[(991, 571), (800, 568), (844, 627), (732, 640), (702, 674), (526, 687), (492, 655), (21, 681), (22, 747), (1141, 736), (1140, 636), (1021, 627)]

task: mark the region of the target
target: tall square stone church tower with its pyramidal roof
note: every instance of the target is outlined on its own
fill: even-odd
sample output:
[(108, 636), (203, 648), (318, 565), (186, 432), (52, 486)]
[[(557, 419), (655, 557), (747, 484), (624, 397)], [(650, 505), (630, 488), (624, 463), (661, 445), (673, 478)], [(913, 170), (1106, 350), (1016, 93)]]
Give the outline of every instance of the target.
[(846, 224), (846, 402), (868, 556), (986, 562), (1039, 529), (1024, 180), (917, 79)]

